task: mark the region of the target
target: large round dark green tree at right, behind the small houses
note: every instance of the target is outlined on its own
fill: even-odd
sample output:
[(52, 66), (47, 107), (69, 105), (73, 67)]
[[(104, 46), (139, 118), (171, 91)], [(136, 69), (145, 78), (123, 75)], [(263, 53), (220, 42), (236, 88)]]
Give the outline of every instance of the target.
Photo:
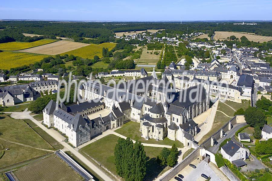
[(265, 118), (264, 113), (255, 107), (247, 108), (244, 113), (244, 119), (251, 127), (259, 126), (262, 128), (266, 124)]

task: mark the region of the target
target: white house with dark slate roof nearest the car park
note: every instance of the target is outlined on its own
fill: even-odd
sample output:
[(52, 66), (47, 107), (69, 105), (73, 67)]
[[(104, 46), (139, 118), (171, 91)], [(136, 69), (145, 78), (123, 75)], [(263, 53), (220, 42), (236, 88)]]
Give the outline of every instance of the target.
[(243, 145), (240, 145), (232, 140), (221, 147), (221, 154), (223, 158), (235, 164), (237, 167), (246, 165), (245, 159), (249, 157), (249, 150)]

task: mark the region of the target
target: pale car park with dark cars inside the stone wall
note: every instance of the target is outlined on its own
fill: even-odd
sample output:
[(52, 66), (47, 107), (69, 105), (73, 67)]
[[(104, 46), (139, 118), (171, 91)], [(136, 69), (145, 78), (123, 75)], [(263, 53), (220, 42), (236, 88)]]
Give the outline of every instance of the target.
[[(201, 157), (199, 157), (199, 160), (194, 160), (191, 164), (196, 165), (196, 168), (194, 169), (188, 165), (178, 173), (184, 176), (183, 181), (205, 181), (206, 179), (201, 176), (202, 173), (210, 176), (211, 181), (229, 181), (229, 179), (216, 168), (216, 165), (211, 162), (208, 164), (202, 161)], [(175, 179), (172, 178), (170, 181), (175, 181)]]

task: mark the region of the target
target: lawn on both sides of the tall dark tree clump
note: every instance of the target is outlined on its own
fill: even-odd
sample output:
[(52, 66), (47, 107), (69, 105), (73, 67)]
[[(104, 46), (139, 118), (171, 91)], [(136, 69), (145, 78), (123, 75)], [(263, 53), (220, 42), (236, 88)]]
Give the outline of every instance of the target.
[[(99, 161), (103, 166), (105, 166), (108, 170), (116, 175), (116, 169), (114, 164), (114, 148), (118, 139), (118, 136), (112, 134), (107, 135), (81, 148), (79, 152), (85, 155), (87, 159), (92, 161), (92, 159), (88, 156), (90, 155), (92, 158), (96, 159), (96, 161)], [(101, 145), (107, 145), (106, 149)], [(158, 147), (144, 147), (147, 156), (147, 174), (145, 176), (145, 180), (153, 180), (161, 172), (165, 172), (169, 169), (169, 167), (161, 167), (156, 162), (156, 157), (158, 154), (160, 154), (160, 151), (162, 149), (163, 148)]]

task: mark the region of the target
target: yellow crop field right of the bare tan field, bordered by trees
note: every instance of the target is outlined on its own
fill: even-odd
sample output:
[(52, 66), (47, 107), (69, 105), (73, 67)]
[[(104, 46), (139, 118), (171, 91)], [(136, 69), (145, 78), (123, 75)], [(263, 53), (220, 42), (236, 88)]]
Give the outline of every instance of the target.
[(101, 58), (103, 47), (108, 48), (108, 50), (110, 51), (112, 48), (115, 47), (116, 43), (102, 43), (99, 45), (87, 44), (87, 45), (88, 46), (84, 46), (84, 47), (78, 48), (76, 50), (67, 51), (65, 53), (62, 53), (62, 55), (64, 55), (64, 54), (75, 55), (75, 56), (79, 56), (82, 58), (93, 58), (95, 55), (97, 55)]

